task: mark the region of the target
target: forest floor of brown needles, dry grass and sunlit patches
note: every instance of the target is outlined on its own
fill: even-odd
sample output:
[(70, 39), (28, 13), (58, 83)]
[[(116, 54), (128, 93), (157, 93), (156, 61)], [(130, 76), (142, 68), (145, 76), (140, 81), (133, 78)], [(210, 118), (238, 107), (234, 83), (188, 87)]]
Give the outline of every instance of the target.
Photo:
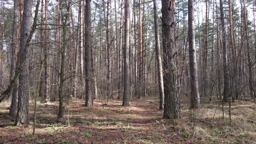
[(174, 120), (175, 132), (173, 120), (162, 118), (163, 112), (158, 110), (155, 98), (133, 99), (127, 107), (122, 107), (117, 100), (104, 106), (95, 100), (95, 107), (90, 108), (84, 107), (81, 100), (73, 99), (69, 107), (66, 105), (65, 117), (58, 122), (58, 104), (40, 104), (34, 136), (33, 105), (29, 124), (15, 127), (13, 118), (7, 116), (10, 103), (1, 103), (0, 144), (256, 144), (253, 102), (232, 102), (230, 125), (228, 104), (224, 105), (222, 119), (221, 101), (203, 102), (190, 122), (186, 101), (187, 97), (182, 97), (181, 118)]

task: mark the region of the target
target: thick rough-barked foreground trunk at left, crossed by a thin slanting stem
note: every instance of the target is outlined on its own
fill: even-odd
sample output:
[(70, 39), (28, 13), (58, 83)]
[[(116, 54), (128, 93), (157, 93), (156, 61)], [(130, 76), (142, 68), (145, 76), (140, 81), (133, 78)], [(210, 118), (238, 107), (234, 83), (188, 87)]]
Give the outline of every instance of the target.
[[(17, 73), (15, 73), (14, 79), (19, 77), (19, 94), (18, 94), (18, 107), (17, 107), (17, 115), (15, 125), (20, 126), (26, 123), (28, 112), (29, 112), (29, 82), (28, 82), (28, 57), (27, 51), (29, 50), (29, 43), (33, 36), (34, 30), (36, 28), (38, 7), (40, 0), (37, 0), (36, 3), (36, 11), (33, 26), (31, 29), (31, 16), (33, 7), (33, 0), (24, 0), (24, 12), (23, 19), (20, 28), (20, 50), (18, 54), (18, 65), (16, 65)], [(30, 30), (31, 29), (31, 30)], [(20, 74), (19, 74), (20, 73)], [(13, 79), (13, 82), (15, 80)], [(10, 84), (12, 85), (12, 83)]]

